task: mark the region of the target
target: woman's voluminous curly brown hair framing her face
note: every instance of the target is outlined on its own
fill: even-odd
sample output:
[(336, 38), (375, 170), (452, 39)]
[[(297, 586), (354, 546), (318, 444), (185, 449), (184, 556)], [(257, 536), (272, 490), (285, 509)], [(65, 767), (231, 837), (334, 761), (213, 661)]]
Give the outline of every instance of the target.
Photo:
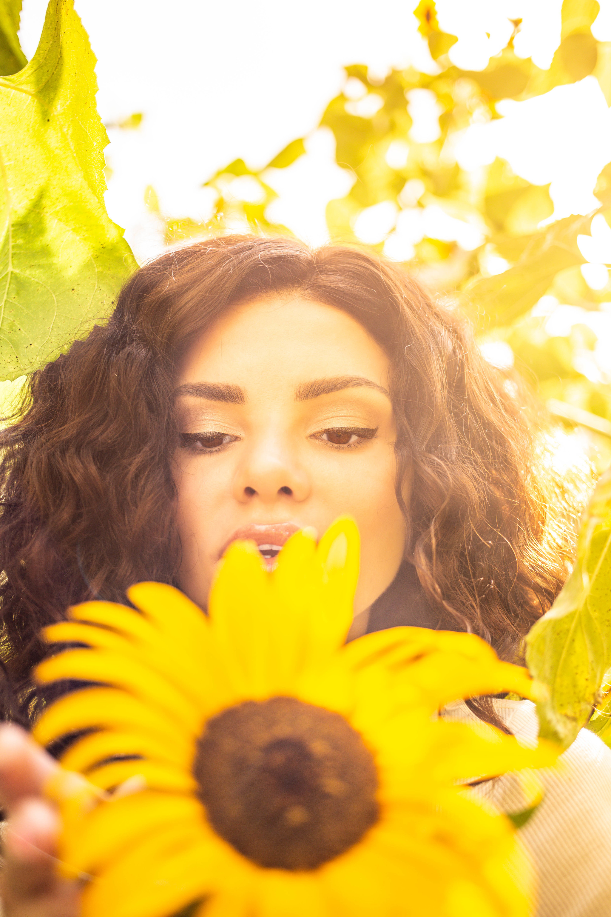
[(371, 252), (213, 238), (137, 271), (106, 325), (32, 374), (1, 434), (5, 716), (37, 713), (43, 625), (92, 597), (125, 602), (138, 580), (176, 582), (175, 368), (228, 306), (285, 291), (353, 315), (387, 352), (399, 501), (412, 478), (406, 563), (438, 624), (518, 658), (562, 586), (573, 529), (549, 525), (524, 387), (482, 359), (453, 310)]

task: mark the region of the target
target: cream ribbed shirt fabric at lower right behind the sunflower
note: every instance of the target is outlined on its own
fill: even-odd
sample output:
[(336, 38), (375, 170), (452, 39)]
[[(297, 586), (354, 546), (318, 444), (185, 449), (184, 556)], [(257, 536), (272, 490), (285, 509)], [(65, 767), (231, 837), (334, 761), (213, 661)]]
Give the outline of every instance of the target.
[[(536, 742), (533, 703), (497, 700), (495, 705), (518, 741)], [(450, 705), (443, 716), (478, 722), (463, 702)], [(518, 831), (538, 877), (536, 917), (611, 917), (611, 749), (582, 729), (560, 760), (559, 768), (540, 771), (543, 800)], [(474, 791), (499, 812), (526, 807), (511, 774)]]

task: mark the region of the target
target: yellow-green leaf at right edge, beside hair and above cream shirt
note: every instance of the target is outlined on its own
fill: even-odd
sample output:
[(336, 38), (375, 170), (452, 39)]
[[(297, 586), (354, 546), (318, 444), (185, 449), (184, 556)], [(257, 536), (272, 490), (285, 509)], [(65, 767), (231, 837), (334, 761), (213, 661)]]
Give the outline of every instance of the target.
[(573, 573), (527, 636), (526, 658), (547, 693), (538, 704), (540, 735), (569, 746), (611, 667), (611, 470), (585, 514)]

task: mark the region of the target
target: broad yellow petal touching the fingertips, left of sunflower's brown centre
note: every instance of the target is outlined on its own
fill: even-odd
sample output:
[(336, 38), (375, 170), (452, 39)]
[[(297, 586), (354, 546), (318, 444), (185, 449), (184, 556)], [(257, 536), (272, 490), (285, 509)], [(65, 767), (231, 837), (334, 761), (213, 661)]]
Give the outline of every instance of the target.
[(168, 828), (200, 830), (201, 823), (202, 805), (194, 798), (144, 790), (99, 805), (78, 826), (65, 830), (60, 855), (77, 873), (95, 875), (151, 835)]

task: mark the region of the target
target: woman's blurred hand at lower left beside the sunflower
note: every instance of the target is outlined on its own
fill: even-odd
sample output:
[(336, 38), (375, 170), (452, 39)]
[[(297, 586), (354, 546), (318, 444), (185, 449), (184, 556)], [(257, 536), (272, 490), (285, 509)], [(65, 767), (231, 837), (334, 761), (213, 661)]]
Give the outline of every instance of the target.
[(0, 871), (3, 917), (78, 917), (76, 882), (55, 872), (59, 817), (42, 789), (57, 768), (18, 726), (0, 725), (0, 805), (8, 823)]

